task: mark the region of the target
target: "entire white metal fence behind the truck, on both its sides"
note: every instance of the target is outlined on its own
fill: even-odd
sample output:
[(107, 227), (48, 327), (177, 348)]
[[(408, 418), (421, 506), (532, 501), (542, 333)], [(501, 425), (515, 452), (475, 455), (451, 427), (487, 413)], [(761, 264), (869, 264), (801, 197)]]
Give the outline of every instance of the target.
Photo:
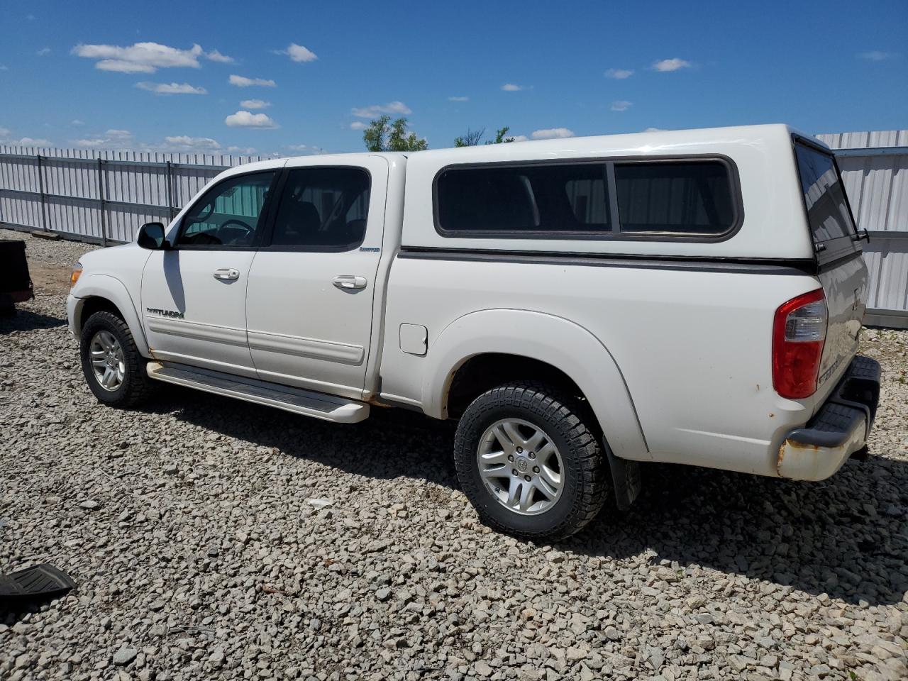
[[(867, 321), (908, 328), (908, 130), (817, 137), (836, 150), (870, 268)], [(0, 145), (0, 225), (91, 242), (168, 222), (224, 168), (263, 157)]]

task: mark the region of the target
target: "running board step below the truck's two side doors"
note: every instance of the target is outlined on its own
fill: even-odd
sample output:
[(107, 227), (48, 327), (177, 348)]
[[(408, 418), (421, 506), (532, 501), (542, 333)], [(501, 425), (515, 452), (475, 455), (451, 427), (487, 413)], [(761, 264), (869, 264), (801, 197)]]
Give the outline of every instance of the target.
[(264, 380), (247, 379), (242, 376), (199, 369), (174, 362), (150, 361), (147, 365), (149, 378), (167, 383), (212, 392), (215, 395), (277, 407), (295, 414), (311, 416), (313, 419), (336, 423), (358, 423), (369, 416), (369, 405), (356, 400), (347, 400), (312, 390), (291, 388), (269, 383)]

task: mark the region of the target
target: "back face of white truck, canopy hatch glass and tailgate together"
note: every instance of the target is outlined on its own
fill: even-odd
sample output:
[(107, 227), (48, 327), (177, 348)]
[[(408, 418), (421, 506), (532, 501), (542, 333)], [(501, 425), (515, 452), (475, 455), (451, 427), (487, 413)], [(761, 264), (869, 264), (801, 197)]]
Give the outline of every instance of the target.
[(829, 314), (817, 380), (821, 403), (857, 352), (867, 303), (867, 266), (833, 154), (799, 138), (795, 158)]

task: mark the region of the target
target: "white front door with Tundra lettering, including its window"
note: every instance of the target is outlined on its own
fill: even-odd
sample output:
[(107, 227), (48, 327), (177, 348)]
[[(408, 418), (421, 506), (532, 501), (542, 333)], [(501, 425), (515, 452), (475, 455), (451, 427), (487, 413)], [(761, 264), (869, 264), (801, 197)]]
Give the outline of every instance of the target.
[(246, 339), (246, 286), (276, 174), (234, 175), (215, 184), (183, 216), (173, 250), (152, 253), (143, 271), (142, 311), (155, 359), (256, 376)]

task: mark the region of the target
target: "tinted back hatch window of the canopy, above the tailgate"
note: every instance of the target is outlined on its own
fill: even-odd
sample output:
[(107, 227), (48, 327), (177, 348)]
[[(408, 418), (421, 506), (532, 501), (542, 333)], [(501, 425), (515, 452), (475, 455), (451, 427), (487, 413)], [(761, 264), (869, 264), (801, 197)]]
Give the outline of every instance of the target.
[(832, 155), (796, 143), (795, 157), (814, 243), (852, 236), (854, 222)]

